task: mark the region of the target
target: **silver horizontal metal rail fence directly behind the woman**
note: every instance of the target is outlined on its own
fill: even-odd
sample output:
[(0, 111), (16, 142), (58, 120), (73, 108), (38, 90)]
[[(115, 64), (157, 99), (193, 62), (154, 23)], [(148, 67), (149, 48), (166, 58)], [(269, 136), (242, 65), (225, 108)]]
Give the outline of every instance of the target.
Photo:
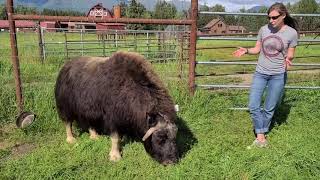
[[(232, 16), (266, 16), (266, 14), (264, 13), (226, 13), (226, 12), (199, 12), (200, 14), (204, 14), (204, 15), (232, 15)], [(303, 16), (303, 17), (320, 17), (320, 14), (291, 14), (292, 16)], [(308, 34), (311, 34), (308, 35)], [(297, 56), (295, 58), (295, 61), (293, 63), (294, 68), (289, 71), (288, 75), (294, 73), (294, 72), (298, 72), (299, 74), (303, 74), (304, 70), (309, 70), (308, 72), (310, 72), (310, 70), (314, 70), (314, 77), (315, 80), (319, 81), (320, 79), (320, 71), (318, 71), (320, 69), (320, 63), (319, 62), (319, 57), (320, 57), (320, 52), (317, 51), (317, 49), (319, 49), (319, 44), (320, 44), (320, 37), (319, 37), (320, 31), (307, 31), (307, 32), (300, 32), (300, 38), (299, 38), (299, 45), (297, 48), (297, 51), (299, 52), (298, 54), (302, 54), (300, 56)], [(201, 40), (210, 40), (212, 42), (221, 42), (220, 44), (228, 44), (228, 41), (232, 42), (232, 45), (220, 45), (220, 46), (214, 46), (214, 47), (198, 47), (197, 48), (197, 53), (199, 54), (201, 51), (205, 51), (205, 50), (214, 50), (216, 52), (218, 52), (221, 49), (224, 49), (223, 51), (226, 51), (225, 53), (229, 53), (231, 54), (231, 51), (234, 51), (237, 49), (237, 43), (239, 42), (240, 45), (238, 46), (243, 46), (244, 42), (248, 42), (246, 43), (245, 47), (253, 47), (254, 44), (250, 44), (250, 42), (256, 42), (257, 39), (252, 37), (257, 35), (257, 33), (238, 33), (238, 34), (220, 34), (220, 35), (199, 35), (198, 36), (198, 43)], [(314, 50), (312, 52), (309, 51), (310, 47), (315, 46), (316, 48), (314, 48)], [(307, 49), (309, 48), (309, 49)], [(229, 50), (228, 50), (229, 49)], [(304, 52), (306, 51), (306, 52)], [(297, 52), (296, 52), (297, 54)], [(227, 55), (227, 54), (226, 54)], [(254, 61), (254, 62), (253, 62)], [(215, 66), (214, 70), (217, 70), (219, 68), (217, 67), (221, 67), (221, 66), (238, 66), (244, 70), (243, 72), (233, 72), (233, 74), (252, 74), (252, 72), (254, 71), (254, 67), (257, 64), (257, 57), (253, 58), (253, 59), (206, 59), (206, 60), (196, 60), (196, 64), (197, 64), (197, 68), (194, 69), (194, 72), (196, 72), (196, 70), (201, 71), (201, 66), (203, 65), (210, 65), (210, 66)], [(301, 62), (301, 63), (300, 63)], [(246, 67), (246, 66), (251, 66), (251, 67)], [(251, 69), (250, 69), (251, 68)], [(204, 68), (202, 68), (204, 69)], [(221, 68), (223, 69), (223, 68)], [(238, 68), (239, 69), (239, 68)], [(250, 69), (248, 71), (248, 69)], [(197, 72), (199, 73), (199, 72)], [(217, 72), (211, 72), (211, 73), (207, 73), (207, 75), (203, 75), (203, 74), (195, 74), (194, 77), (199, 76), (208, 76), (208, 74), (214, 74), (217, 75), (219, 73)], [(221, 74), (220, 74), (221, 75)], [(225, 75), (230, 75), (230, 74), (225, 74)], [(227, 77), (227, 76), (226, 76)], [(230, 76), (229, 76), (230, 77)], [(304, 81), (306, 82), (310, 82), (312, 81), (312, 79), (308, 79), (306, 78)], [(205, 88), (205, 89), (215, 89), (215, 88), (239, 88), (239, 89), (247, 89), (250, 88), (250, 81), (247, 81), (245, 83), (241, 83), (237, 82), (235, 84), (232, 83), (227, 83), (227, 84), (217, 84), (211, 81), (211, 83), (209, 84), (207, 83), (201, 83), (201, 81), (196, 84), (196, 79), (191, 80), (191, 82), (195, 83), (194, 87), (197, 88)], [(313, 84), (313, 85), (294, 85), (294, 83), (292, 83), (293, 85), (287, 85), (286, 89), (309, 89), (309, 90), (319, 90), (320, 86), (316, 83), (316, 85), (314, 85), (314, 83), (307, 83), (307, 84)], [(299, 84), (299, 83), (297, 83)], [(302, 83), (303, 84), (303, 83)]]

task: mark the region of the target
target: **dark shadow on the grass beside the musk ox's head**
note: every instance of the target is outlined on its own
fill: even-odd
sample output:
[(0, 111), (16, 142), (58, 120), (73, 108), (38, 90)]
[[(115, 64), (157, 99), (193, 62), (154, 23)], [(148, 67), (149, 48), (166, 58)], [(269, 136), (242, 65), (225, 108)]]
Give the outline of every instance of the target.
[(184, 155), (191, 150), (192, 146), (196, 144), (198, 141), (192, 134), (189, 127), (186, 125), (185, 121), (178, 117), (177, 119), (177, 146), (179, 150), (179, 159), (183, 158)]

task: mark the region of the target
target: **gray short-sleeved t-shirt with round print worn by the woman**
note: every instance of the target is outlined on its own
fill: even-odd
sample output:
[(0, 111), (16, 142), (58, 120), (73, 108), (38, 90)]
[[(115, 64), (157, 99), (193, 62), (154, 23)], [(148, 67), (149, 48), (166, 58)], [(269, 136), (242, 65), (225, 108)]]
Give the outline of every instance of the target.
[(298, 44), (297, 31), (287, 25), (283, 31), (277, 31), (267, 24), (261, 27), (258, 41), (262, 46), (256, 71), (268, 75), (284, 73), (288, 48)]

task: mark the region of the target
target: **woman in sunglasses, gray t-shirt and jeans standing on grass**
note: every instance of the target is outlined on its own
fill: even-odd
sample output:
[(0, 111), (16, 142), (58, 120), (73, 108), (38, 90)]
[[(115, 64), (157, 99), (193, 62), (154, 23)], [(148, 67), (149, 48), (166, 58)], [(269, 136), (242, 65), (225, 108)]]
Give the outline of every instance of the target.
[[(268, 9), (269, 23), (260, 28), (255, 47), (242, 48), (233, 52), (240, 57), (244, 54), (259, 54), (256, 71), (249, 96), (249, 110), (254, 124), (256, 139), (252, 147), (268, 145), (266, 133), (286, 82), (286, 71), (292, 64), (297, 46), (297, 22), (290, 17), (282, 3), (275, 3)], [(264, 107), (262, 96), (266, 90)]]

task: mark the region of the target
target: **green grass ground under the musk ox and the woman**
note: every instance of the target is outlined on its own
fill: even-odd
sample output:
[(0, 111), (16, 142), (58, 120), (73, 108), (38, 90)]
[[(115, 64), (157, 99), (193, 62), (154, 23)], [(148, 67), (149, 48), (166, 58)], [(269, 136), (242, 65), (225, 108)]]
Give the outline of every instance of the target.
[[(0, 41), (3, 39), (8, 41), (0, 33)], [(37, 58), (27, 58), (37, 51), (23, 45), (19, 52), (24, 54), (20, 65), (25, 110), (33, 111), (37, 118), (26, 129), (15, 127), (14, 81), (10, 51), (4, 44), (0, 46), (4, 54), (0, 61), (0, 179), (320, 178), (319, 91), (286, 91), (268, 134), (270, 147), (247, 150), (246, 146), (254, 139), (249, 113), (229, 108), (246, 106), (248, 91), (199, 89), (191, 97), (185, 77), (176, 78), (176, 63), (153, 64), (175, 103), (180, 105), (177, 143), (181, 159), (174, 166), (164, 167), (145, 152), (141, 142), (124, 138), (123, 158), (112, 163), (108, 160), (111, 147), (108, 137), (92, 141), (87, 133), (76, 131), (77, 143), (66, 143), (64, 125), (58, 118), (53, 97), (54, 82), (64, 59), (51, 58), (41, 64)], [(319, 53), (316, 51), (309, 53)], [(222, 52), (220, 56), (208, 52), (198, 54), (198, 58), (225, 57)], [(233, 68), (232, 71), (243, 69)], [(293, 85), (319, 86), (319, 76), (293, 73), (289, 80)], [(240, 83), (241, 79), (213, 76), (198, 81)]]

